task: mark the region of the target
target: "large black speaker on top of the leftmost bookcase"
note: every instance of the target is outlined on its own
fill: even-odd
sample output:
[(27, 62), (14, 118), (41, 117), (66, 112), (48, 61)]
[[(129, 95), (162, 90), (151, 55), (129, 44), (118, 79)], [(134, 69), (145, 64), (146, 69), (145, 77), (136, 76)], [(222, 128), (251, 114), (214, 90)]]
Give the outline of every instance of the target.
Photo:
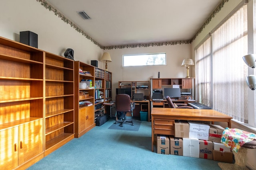
[(20, 43), (38, 48), (38, 35), (31, 31), (20, 31)]

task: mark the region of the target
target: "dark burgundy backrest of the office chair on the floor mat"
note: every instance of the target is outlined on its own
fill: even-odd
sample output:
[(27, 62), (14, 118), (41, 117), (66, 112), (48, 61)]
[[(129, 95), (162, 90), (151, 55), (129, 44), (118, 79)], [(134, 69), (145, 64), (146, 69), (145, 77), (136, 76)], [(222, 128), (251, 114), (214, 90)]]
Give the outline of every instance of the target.
[(116, 95), (116, 111), (131, 111), (131, 98), (128, 94)]

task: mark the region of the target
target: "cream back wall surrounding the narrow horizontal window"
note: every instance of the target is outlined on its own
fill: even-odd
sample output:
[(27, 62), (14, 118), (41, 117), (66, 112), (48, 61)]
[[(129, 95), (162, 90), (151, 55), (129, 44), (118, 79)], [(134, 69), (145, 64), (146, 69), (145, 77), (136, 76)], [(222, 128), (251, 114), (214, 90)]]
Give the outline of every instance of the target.
[[(161, 47), (143, 47), (106, 50), (110, 53), (112, 62), (108, 70), (113, 73), (112, 88), (118, 88), (118, 81), (150, 81), (150, 78), (180, 78), (186, 77), (186, 68), (182, 67), (183, 59), (190, 58), (191, 44), (168, 45)], [(122, 66), (122, 55), (166, 53), (166, 65), (156, 66)], [(136, 61), (134, 61), (136, 62)], [(113, 90), (115, 95), (115, 90)]]

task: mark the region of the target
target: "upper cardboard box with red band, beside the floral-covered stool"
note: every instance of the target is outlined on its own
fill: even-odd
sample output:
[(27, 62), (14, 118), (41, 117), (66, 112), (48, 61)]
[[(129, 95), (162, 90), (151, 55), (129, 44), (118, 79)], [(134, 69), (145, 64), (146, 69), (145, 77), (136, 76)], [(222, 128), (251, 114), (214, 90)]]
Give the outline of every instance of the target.
[(225, 129), (220, 125), (210, 125), (209, 141), (221, 143), (221, 136)]

